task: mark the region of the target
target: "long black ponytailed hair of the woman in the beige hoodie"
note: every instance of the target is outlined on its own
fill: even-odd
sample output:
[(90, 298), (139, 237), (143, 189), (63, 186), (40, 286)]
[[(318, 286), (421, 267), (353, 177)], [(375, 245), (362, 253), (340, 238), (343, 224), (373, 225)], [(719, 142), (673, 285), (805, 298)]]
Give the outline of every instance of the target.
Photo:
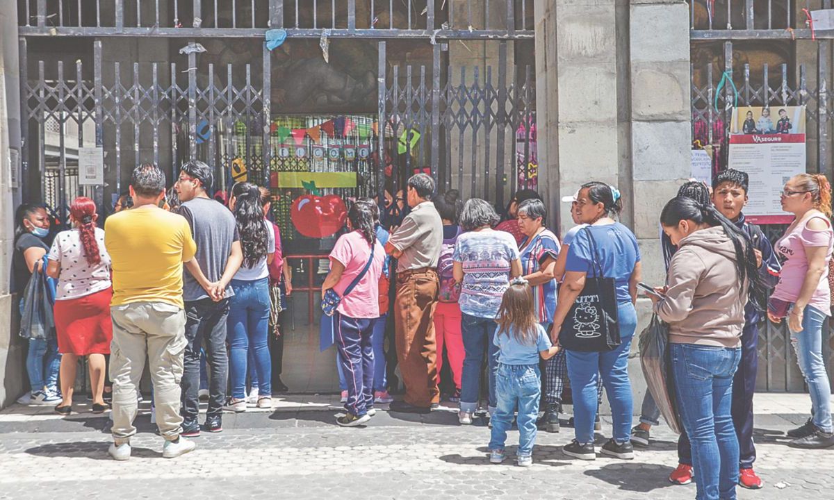
[(712, 203), (699, 203), (692, 198), (672, 198), (661, 212), (661, 224), (666, 228), (676, 228), (683, 220), (692, 221), (698, 225), (706, 224), (711, 228), (721, 226), (736, 249), (736, 272), (744, 283), (747, 280), (747, 292), (750, 302), (759, 309), (764, 309), (766, 303), (766, 286), (759, 274), (756, 264), (756, 253), (753, 243), (747, 233), (736, 227), (736, 224), (718, 212)]

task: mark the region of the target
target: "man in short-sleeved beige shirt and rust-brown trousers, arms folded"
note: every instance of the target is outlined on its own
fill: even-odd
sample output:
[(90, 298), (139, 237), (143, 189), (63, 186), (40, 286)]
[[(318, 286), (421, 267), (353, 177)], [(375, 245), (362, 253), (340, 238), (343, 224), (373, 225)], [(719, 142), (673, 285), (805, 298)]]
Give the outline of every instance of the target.
[(394, 328), (405, 383), (404, 401), (391, 403), (394, 412), (428, 413), (440, 403), (434, 316), (443, 222), (430, 202), (434, 191), (435, 181), (425, 173), (409, 178), (411, 213), (385, 244), (385, 251), (398, 259)]

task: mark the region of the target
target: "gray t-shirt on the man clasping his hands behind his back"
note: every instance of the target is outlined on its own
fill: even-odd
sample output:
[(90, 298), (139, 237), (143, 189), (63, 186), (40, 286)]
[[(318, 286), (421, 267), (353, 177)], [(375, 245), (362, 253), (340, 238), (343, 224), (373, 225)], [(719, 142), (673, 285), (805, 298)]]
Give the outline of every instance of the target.
[[(232, 243), (239, 240), (238, 227), (234, 215), (222, 203), (211, 198), (194, 198), (182, 204), (179, 213), (191, 226), (191, 236), (197, 243), (194, 258), (203, 270), (209, 282), (216, 282), (223, 277)], [(231, 287), (226, 287), (226, 297), (234, 295)], [(197, 280), (183, 269), (183, 300), (186, 302), (208, 298), (208, 293)]]

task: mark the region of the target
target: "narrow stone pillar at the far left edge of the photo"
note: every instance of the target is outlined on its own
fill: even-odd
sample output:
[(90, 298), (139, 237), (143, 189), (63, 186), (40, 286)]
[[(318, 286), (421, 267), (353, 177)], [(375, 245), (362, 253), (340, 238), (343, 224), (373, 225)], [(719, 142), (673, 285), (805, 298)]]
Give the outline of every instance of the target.
[[(0, 0), (0, 408), (26, 392), (25, 348), (12, 314), (17, 303), (9, 293), (12, 268), (14, 208), (20, 202), (11, 186), (11, 151), (20, 153), (20, 73), (18, 68), (18, 2)], [(19, 154), (17, 158), (20, 158)]]

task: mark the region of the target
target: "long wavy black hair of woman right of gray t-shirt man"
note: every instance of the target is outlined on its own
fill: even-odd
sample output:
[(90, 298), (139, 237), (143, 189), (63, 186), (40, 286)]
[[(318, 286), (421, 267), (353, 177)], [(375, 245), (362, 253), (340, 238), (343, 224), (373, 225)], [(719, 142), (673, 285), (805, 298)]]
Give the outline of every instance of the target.
[(260, 190), (253, 183), (237, 183), (232, 195), (235, 198), (234, 220), (238, 224), (240, 247), (244, 251), (244, 266), (251, 269), (266, 257), (269, 242)]

